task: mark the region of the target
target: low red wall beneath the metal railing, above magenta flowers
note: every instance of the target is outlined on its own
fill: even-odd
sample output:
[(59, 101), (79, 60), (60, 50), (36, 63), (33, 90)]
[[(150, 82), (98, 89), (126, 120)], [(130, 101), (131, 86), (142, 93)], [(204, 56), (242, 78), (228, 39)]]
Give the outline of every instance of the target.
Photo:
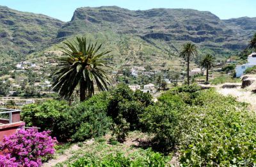
[(3, 140), (4, 136), (9, 136), (15, 134), (20, 127), (23, 127), (25, 122), (15, 122), (15, 123), (8, 123), (0, 125), (0, 141)]

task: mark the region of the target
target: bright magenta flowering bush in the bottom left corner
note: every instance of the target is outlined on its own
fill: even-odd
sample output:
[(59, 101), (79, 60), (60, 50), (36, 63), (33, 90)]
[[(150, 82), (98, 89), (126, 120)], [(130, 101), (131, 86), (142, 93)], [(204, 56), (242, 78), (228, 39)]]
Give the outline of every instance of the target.
[(7, 136), (0, 143), (5, 159), (0, 157), (5, 166), (40, 166), (42, 161), (54, 154), (56, 138), (49, 136), (49, 131), (38, 132), (37, 129), (20, 129), (16, 134)]

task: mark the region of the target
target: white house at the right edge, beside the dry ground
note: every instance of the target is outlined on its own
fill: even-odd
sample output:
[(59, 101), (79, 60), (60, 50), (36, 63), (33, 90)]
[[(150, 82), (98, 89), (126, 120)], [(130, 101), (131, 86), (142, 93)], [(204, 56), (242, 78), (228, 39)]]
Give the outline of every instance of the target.
[(247, 58), (248, 63), (243, 65), (236, 66), (236, 77), (241, 77), (244, 74), (244, 71), (247, 68), (253, 67), (256, 65), (256, 52), (252, 52)]

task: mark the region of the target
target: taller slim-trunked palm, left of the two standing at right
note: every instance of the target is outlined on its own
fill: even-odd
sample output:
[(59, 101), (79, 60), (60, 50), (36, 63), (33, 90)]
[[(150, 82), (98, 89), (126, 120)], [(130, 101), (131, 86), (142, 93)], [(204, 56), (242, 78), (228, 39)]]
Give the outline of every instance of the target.
[(188, 84), (189, 84), (189, 61), (191, 58), (197, 55), (197, 48), (195, 44), (188, 42), (183, 45), (182, 50), (180, 51), (180, 57), (184, 58), (187, 61), (187, 77), (188, 77)]

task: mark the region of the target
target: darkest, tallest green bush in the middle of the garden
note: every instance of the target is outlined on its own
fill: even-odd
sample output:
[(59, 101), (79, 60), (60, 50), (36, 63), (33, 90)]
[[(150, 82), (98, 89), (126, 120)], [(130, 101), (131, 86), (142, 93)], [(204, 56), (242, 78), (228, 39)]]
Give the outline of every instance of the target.
[(113, 118), (113, 136), (120, 142), (125, 141), (129, 130), (143, 129), (140, 115), (145, 107), (152, 104), (150, 93), (132, 91), (127, 85), (119, 84), (110, 92), (108, 115)]

